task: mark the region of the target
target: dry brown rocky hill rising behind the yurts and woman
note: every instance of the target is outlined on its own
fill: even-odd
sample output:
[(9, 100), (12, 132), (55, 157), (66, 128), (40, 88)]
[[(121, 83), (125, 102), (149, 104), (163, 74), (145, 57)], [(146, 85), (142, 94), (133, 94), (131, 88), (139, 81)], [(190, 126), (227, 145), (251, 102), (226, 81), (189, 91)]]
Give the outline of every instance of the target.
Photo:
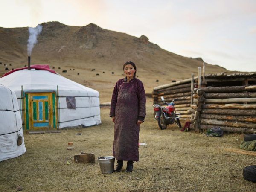
[[(200, 58), (192, 59), (168, 52), (150, 42), (145, 35), (138, 38), (102, 29), (93, 23), (82, 27), (59, 22), (41, 25), (43, 29), (32, 50), (31, 64), (49, 64), (61, 75), (93, 88), (100, 89), (99, 86), (108, 83), (112, 87), (117, 79), (122, 78), (125, 61), (137, 64), (139, 78), (149, 83), (146, 84), (148, 91), (159, 84), (189, 78), (191, 73), (196, 75), (198, 66), (202, 66)], [(28, 37), (27, 27), (0, 28), (2, 66), (7, 64), (10, 70), (27, 64)], [(63, 69), (67, 73), (62, 73)], [(223, 71), (227, 70), (218, 65), (206, 66), (206, 73)], [(0, 66), (0, 74), (4, 72), (4, 67)], [(99, 74), (97, 77), (96, 73)]]

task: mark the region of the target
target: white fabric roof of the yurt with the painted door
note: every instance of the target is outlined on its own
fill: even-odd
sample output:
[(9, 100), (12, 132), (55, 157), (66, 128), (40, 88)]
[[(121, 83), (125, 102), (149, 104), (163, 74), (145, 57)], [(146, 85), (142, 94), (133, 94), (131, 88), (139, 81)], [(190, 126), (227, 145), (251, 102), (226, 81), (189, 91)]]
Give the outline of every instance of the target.
[(99, 96), (99, 92), (48, 70), (16, 70), (0, 78), (0, 83), (14, 90), (59, 90), (60, 96)]

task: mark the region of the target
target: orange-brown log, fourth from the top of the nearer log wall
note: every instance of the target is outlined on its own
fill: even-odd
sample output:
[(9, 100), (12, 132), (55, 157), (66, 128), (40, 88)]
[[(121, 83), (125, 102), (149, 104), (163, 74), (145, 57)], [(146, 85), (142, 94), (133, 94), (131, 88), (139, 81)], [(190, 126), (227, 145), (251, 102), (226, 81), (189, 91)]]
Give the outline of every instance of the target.
[[(204, 109), (256, 109), (256, 104), (204, 104)], [(255, 114), (256, 115), (256, 114)]]

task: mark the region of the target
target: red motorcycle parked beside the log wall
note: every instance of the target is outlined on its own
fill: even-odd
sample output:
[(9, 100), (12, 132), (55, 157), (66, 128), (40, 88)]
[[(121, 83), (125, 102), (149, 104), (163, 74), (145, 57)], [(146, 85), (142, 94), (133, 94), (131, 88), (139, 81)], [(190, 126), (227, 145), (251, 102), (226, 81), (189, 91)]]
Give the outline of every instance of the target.
[(162, 101), (167, 104), (167, 107), (163, 107), (159, 104), (153, 105), (155, 117), (157, 120), (160, 129), (166, 129), (167, 125), (176, 123), (179, 128), (181, 128), (180, 124), (180, 113), (176, 113), (174, 107), (174, 100), (168, 103), (165, 102), (163, 96), (161, 97)]

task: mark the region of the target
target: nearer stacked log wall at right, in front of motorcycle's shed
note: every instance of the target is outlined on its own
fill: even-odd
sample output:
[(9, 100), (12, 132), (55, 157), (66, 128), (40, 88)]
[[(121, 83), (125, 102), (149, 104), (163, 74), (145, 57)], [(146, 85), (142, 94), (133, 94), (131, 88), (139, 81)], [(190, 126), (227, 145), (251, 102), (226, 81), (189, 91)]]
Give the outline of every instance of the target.
[(256, 85), (198, 88), (193, 98), (198, 102), (192, 106), (195, 114), (191, 128), (255, 133)]

